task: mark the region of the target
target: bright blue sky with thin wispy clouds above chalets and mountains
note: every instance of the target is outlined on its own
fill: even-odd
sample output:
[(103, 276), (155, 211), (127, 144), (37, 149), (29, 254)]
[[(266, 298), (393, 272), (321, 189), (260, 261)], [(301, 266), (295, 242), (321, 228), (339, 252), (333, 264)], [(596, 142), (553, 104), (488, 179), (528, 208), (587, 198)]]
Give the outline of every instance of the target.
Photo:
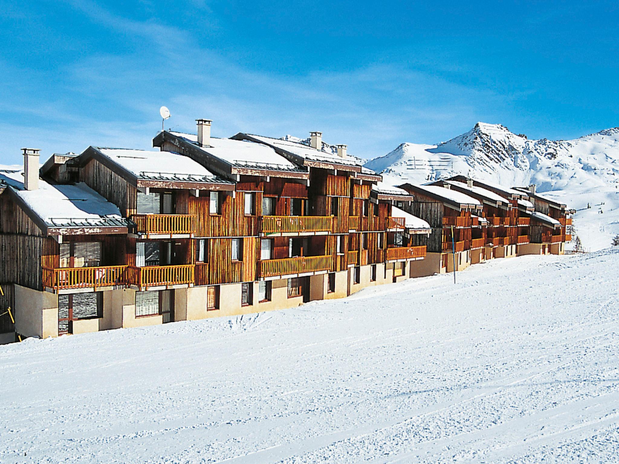
[(0, 23), (5, 164), (149, 148), (161, 105), (175, 130), (318, 130), (366, 158), (477, 121), (619, 126), (617, 2), (0, 0)]

